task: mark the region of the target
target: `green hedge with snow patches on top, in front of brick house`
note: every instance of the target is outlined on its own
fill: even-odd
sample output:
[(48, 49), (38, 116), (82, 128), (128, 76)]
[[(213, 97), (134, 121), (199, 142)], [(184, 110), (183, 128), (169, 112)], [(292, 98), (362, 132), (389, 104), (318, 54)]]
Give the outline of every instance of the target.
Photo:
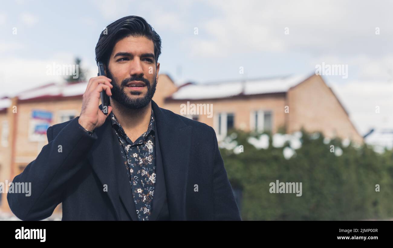
[[(257, 149), (247, 142), (253, 134), (233, 131), (244, 152), (220, 148), (228, 178), (242, 189), (243, 220), (365, 220), (393, 217), (393, 153), (379, 154), (364, 145), (342, 146), (339, 139), (323, 143), (304, 130), (302, 146), (290, 159), (283, 148)], [(253, 135), (259, 137), (259, 135)], [(314, 138), (312, 138), (314, 137)], [(331, 152), (331, 145), (341, 156)], [(270, 182), (302, 182), (302, 195), (270, 193)], [(380, 185), (376, 192), (375, 185)]]

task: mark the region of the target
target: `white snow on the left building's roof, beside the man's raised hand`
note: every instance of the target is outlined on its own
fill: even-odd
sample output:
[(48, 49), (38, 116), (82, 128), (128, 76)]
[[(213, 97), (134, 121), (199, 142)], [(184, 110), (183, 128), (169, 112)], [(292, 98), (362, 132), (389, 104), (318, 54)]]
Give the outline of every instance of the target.
[(38, 88), (29, 89), (18, 94), (20, 100), (33, 99), (42, 96), (70, 97), (83, 95), (88, 82), (75, 84), (47, 84)]

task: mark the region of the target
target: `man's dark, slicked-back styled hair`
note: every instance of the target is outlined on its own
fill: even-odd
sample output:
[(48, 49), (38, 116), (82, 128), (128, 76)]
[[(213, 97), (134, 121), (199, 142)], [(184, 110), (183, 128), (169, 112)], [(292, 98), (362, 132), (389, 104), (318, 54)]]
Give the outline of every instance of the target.
[(95, 46), (95, 61), (103, 62), (108, 68), (109, 58), (116, 42), (130, 35), (145, 36), (153, 41), (154, 57), (157, 66), (158, 57), (161, 54), (160, 35), (140, 16), (125, 16), (109, 24), (107, 30), (101, 32), (97, 45)]

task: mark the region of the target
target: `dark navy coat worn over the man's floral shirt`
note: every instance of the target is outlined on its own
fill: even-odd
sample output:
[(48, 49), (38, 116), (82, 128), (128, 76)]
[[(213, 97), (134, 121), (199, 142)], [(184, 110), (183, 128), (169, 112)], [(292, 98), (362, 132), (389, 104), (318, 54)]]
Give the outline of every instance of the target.
[[(151, 103), (161, 157), (151, 220), (240, 221), (214, 129)], [(31, 195), (8, 193), (11, 211), (41, 220), (62, 202), (62, 220), (138, 220), (110, 119), (90, 136), (78, 118), (48, 128), (49, 143), (13, 179), (31, 182)]]

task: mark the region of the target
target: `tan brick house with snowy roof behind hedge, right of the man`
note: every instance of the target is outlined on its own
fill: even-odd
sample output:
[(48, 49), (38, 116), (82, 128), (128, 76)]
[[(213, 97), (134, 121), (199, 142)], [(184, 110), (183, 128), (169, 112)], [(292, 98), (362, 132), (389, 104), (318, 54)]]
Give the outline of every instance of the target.
[(304, 127), (329, 138), (363, 142), (348, 112), (319, 75), (188, 83), (166, 98), (164, 108), (180, 114), (182, 104), (213, 104), (213, 117), (189, 118), (212, 126), (221, 139), (230, 128), (292, 133)]

